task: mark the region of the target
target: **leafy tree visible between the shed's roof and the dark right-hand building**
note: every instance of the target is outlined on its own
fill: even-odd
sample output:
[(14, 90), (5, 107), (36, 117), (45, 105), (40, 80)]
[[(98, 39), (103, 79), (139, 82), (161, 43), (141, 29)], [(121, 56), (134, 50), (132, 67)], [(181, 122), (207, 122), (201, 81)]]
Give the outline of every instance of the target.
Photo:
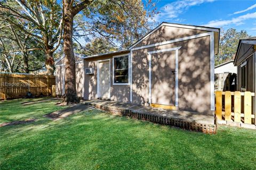
[(219, 54), (215, 56), (215, 65), (232, 60), (236, 54), (239, 39), (250, 37), (245, 30), (237, 31), (230, 28), (227, 31), (222, 30), (220, 33)]

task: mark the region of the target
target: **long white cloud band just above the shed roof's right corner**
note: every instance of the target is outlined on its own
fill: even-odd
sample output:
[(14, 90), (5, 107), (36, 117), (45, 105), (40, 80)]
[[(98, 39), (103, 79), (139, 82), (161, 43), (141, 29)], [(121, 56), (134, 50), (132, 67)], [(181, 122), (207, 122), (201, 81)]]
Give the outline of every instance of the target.
[(245, 15), (238, 16), (237, 18), (233, 18), (230, 20), (213, 20), (207, 23), (206, 27), (223, 27), (230, 24), (241, 25), (244, 24), (243, 21), (249, 19), (256, 19), (256, 12), (254, 13), (247, 13)]

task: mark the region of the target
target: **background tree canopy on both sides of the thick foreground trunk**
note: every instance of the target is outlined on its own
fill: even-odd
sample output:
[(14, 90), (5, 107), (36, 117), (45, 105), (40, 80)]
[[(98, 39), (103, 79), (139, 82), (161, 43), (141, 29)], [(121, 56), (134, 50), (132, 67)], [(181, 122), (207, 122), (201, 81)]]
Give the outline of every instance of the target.
[[(70, 1), (73, 6), (81, 5), (84, 2), (87, 1)], [(86, 54), (127, 48), (145, 35), (155, 24), (148, 22), (148, 19), (157, 13), (155, 3), (150, 0), (143, 2), (141, 0), (88, 2), (90, 5), (83, 9), (81, 6), (76, 8), (77, 13), (73, 22), (74, 34), (72, 35), (75, 46), (79, 48), (76, 49), (80, 52), (84, 50), (87, 52)], [(57, 0), (3, 0), (0, 2), (0, 8), (0, 34), (2, 34), (2, 41), (5, 41), (5, 46), (0, 44), (0, 48), (2, 51), (4, 49), (11, 51), (11, 53), (1, 54), (1, 66), (5, 68), (1, 67), (1, 69), (27, 73), (44, 66), (48, 74), (53, 74), (54, 56), (58, 58), (58, 55), (53, 53), (56, 50), (63, 52), (63, 2)], [(12, 40), (12, 30), (17, 32), (20, 40)], [(6, 34), (6, 32), (8, 33)], [(12, 45), (7, 47), (6, 41), (12, 42), (8, 44)], [(31, 44), (33, 41), (34, 44)], [(23, 44), (21, 47), (22, 43), (26, 43), (26, 45)], [(58, 49), (59, 47), (60, 49)], [(14, 53), (13, 50), (19, 50), (19, 52)], [(40, 55), (38, 56), (38, 54)], [(43, 57), (44, 64), (42, 64), (42, 55), (45, 55)], [(41, 64), (35, 67), (33, 64), (29, 65), (29, 61)], [(23, 69), (11, 69), (20, 64)]]

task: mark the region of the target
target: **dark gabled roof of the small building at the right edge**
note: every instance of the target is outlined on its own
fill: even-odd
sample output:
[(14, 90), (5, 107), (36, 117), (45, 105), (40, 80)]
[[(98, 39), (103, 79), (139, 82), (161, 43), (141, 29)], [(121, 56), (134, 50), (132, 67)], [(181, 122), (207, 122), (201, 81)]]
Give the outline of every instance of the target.
[[(253, 52), (253, 50), (256, 50), (256, 37), (250, 37), (247, 39), (240, 39), (237, 49), (236, 49), (236, 55), (235, 55), (235, 60), (234, 60), (234, 65), (237, 65), (239, 63), (241, 63), (241, 61), (239, 61), (239, 63), (237, 63), (237, 58), (238, 55), (240, 54), (240, 49), (241, 47), (243, 47), (243, 55), (245, 55), (246, 53), (248, 53), (248, 55), (250, 55), (251, 52)], [(239, 59), (243, 58), (243, 56), (240, 56)]]

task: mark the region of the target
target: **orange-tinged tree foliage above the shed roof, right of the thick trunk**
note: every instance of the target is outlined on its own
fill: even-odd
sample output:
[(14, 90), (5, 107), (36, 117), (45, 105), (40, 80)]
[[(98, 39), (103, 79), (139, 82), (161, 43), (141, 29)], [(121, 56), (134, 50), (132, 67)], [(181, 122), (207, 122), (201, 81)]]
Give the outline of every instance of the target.
[[(83, 10), (83, 14), (75, 16), (73, 37), (83, 37), (87, 42), (100, 38), (118, 49), (128, 48), (156, 25), (155, 22), (148, 22), (158, 13), (156, 4), (151, 1), (143, 2), (93, 1)], [(85, 17), (86, 20), (83, 19)]]

